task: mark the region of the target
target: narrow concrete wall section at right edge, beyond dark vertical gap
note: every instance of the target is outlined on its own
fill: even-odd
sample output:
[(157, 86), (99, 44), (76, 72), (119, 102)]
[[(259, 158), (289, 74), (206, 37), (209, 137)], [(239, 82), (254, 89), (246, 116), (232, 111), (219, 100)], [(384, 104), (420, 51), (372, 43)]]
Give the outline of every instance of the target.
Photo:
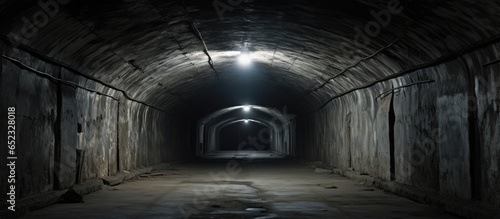
[(499, 53), (497, 44), (466, 59), (469, 71), (475, 75), (476, 101), (469, 108), (476, 112), (478, 129), (475, 143), (479, 146), (479, 195), (493, 203), (500, 203), (500, 63), (483, 64), (484, 60), (498, 60)]

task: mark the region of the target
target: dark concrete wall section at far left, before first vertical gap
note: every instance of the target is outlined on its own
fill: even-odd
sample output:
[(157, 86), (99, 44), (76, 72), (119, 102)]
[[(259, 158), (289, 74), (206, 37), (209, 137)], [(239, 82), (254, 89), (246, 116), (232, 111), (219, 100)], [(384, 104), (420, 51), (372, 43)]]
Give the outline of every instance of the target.
[[(32, 57), (24, 57), (40, 69), (51, 69), (58, 74), (60, 68), (52, 69)], [(52, 190), (54, 183), (54, 144), (56, 142), (55, 124), (57, 119), (57, 84), (18, 68), (2, 59), (1, 108), (7, 115), (7, 107), (16, 108), (16, 168), (23, 170), (24, 177), (18, 177), (17, 198), (24, 198)], [(39, 95), (43, 94), (43, 95)], [(2, 119), (2, 122), (6, 121)], [(4, 122), (3, 124), (7, 124)], [(5, 131), (4, 131), (5, 130)], [(7, 127), (2, 125), (2, 136), (6, 139)], [(2, 143), (0, 161), (7, 163), (7, 146)], [(2, 165), (5, 166), (5, 165)], [(7, 171), (2, 168), (1, 178), (7, 179)], [(3, 185), (2, 191), (7, 192)]]

